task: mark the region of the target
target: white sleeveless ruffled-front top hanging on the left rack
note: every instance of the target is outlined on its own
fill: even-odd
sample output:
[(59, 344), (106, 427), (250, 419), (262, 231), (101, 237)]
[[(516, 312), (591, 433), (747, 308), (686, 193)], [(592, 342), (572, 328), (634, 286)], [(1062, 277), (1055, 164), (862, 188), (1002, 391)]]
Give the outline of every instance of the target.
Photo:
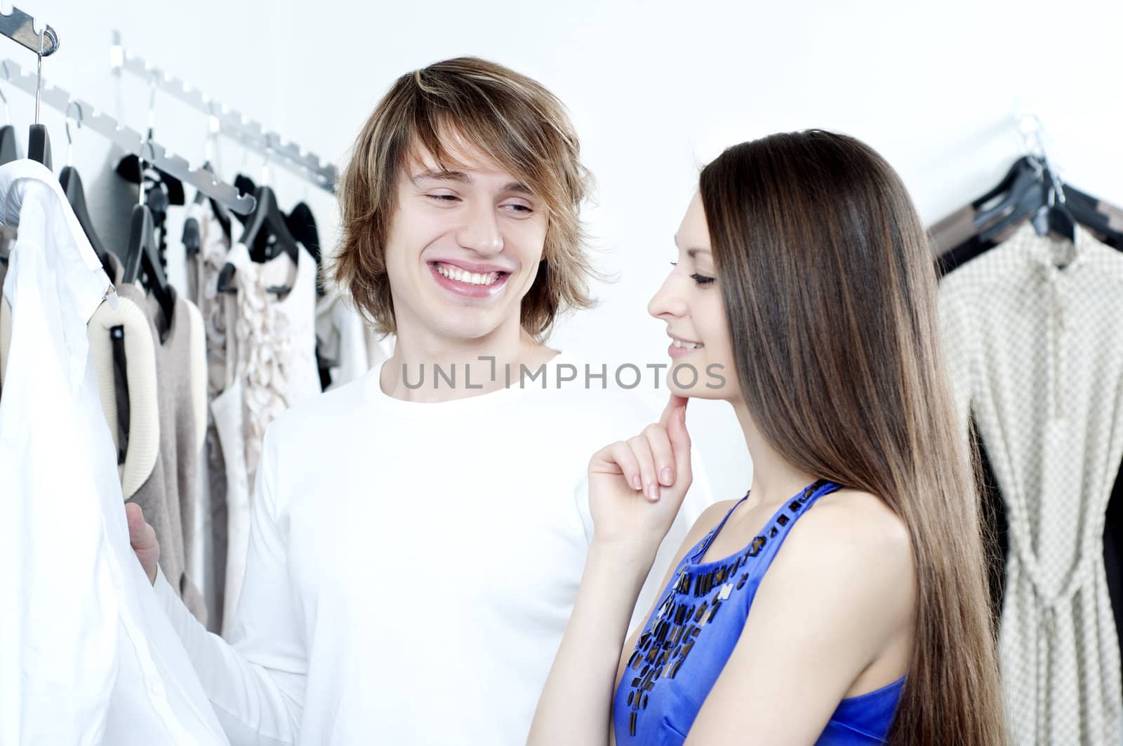
[[(281, 254), (263, 264), (243, 244), (227, 255), (237, 292), (227, 299), (226, 389), (211, 402), (226, 464), (226, 585), (222, 634), (230, 633), (246, 572), (250, 486), (265, 429), (293, 404), (320, 393), (316, 367), (316, 261)], [(291, 288), (279, 298), (272, 288)]]

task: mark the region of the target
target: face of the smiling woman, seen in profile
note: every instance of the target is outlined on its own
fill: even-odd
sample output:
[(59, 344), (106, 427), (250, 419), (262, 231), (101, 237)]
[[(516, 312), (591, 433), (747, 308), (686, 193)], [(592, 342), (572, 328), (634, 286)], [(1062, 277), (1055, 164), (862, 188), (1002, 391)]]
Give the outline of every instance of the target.
[(648, 312), (667, 324), (667, 386), (682, 397), (732, 400), (740, 395), (721, 289), (714, 275), (710, 230), (696, 193), (678, 233), (678, 261)]

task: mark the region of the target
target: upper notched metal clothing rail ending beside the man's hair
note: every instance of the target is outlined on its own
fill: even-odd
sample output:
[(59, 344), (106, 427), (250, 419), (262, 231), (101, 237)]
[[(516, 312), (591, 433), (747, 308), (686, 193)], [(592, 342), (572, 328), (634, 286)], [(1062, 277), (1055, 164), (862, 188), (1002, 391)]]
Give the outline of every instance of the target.
[(212, 121), (218, 124), (220, 131), (227, 136), (257, 151), (271, 161), (274, 157), (277, 158), (281, 165), (286, 166), (296, 175), (310, 181), (320, 189), (335, 193), (336, 182), (339, 179), (338, 167), (331, 163), (321, 161), (319, 156), (302, 149), (300, 145), (286, 142), (276, 133), (266, 130), (259, 122), (249, 119), (225, 103), (216, 101), (175, 75), (128, 52), (121, 46), (119, 31), (113, 31), (110, 66), (117, 74), (120, 74), (121, 71), (133, 73), (149, 84), (171, 93), (192, 108), (209, 115)]

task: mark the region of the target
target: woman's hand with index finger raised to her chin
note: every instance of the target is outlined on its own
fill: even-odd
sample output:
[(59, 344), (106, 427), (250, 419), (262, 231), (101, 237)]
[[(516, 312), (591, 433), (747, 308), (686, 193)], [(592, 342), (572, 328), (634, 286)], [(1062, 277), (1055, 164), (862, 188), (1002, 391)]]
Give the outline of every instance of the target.
[(691, 485), (686, 398), (670, 395), (658, 422), (601, 448), (588, 462), (593, 540), (654, 557)]

